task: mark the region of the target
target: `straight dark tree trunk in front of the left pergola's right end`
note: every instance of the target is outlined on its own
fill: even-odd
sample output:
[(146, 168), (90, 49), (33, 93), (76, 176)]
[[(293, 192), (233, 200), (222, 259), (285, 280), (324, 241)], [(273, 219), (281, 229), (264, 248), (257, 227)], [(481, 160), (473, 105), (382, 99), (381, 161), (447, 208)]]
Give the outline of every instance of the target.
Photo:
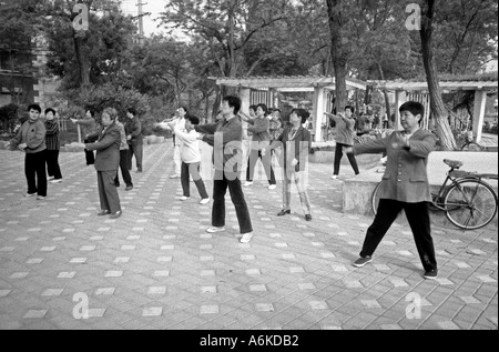
[(347, 74), (347, 53), (345, 50), (345, 43), (342, 41), (346, 37), (342, 36), (343, 23), (346, 17), (342, 13), (343, 1), (342, 0), (327, 0), (327, 14), (329, 18), (329, 32), (330, 32), (330, 57), (333, 59), (333, 66), (335, 69), (336, 80), (336, 111), (340, 112), (345, 110), (347, 104), (348, 94), (346, 89), (346, 74)]

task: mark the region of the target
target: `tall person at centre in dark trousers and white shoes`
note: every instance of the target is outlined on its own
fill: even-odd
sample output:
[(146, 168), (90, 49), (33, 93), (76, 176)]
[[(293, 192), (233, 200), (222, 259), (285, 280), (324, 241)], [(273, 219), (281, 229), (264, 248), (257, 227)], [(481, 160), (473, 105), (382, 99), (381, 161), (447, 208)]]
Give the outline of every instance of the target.
[(227, 95), (222, 101), (223, 119), (216, 123), (196, 125), (195, 131), (204, 133), (202, 140), (213, 145), (215, 177), (213, 180), (212, 227), (206, 232), (225, 231), (225, 193), (231, 193), (234, 203), (242, 243), (253, 237), (252, 220), (241, 187), (241, 168), (243, 163), (243, 127), (236, 118), (241, 109), (238, 97)]

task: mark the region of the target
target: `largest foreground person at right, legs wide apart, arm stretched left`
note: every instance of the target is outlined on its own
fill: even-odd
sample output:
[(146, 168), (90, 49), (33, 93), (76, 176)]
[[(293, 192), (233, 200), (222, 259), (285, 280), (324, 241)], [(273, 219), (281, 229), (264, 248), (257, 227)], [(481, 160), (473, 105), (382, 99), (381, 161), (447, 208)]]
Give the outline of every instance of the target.
[(425, 269), (425, 279), (437, 278), (437, 260), (431, 239), (428, 203), (431, 201), (426, 165), (435, 149), (435, 134), (419, 128), (425, 108), (408, 101), (400, 108), (403, 131), (364, 144), (348, 148), (354, 154), (387, 152), (386, 171), (380, 187), (380, 200), (373, 224), (367, 230), (360, 258), (355, 266), (370, 262), (384, 235), (404, 210), (413, 230), (416, 248)]

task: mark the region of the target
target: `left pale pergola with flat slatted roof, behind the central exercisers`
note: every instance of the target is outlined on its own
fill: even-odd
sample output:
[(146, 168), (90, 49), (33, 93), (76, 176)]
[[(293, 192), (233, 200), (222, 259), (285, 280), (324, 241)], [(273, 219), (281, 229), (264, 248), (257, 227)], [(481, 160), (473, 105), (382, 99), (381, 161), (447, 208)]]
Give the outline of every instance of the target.
[[(243, 102), (243, 110), (251, 105), (252, 90), (266, 89), (269, 94), (269, 101), (274, 101), (276, 92), (314, 92), (313, 100), (313, 135), (314, 141), (320, 141), (322, 121), (324, 112), (330, 103), (327, 92), (336, 89), (335, 78), (325, 76), (292, 76), (292, 77), (242, 77), (242, 78), (210, 78), (216, 81), (217, 86), (237, 88), (240, 98)], [(347, 90), (366, 89), (367, 83), (356, 79), (346, 80)]]

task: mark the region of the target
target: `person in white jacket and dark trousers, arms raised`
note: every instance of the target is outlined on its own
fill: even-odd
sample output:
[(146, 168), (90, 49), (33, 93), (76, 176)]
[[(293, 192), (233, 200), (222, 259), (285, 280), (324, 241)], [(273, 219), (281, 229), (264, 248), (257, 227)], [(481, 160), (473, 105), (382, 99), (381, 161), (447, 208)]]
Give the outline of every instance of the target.
[(185, 114), (184, 127), (177, 121), (170, 122), (170, 127), (175, 132), (176, 140), (180, 149), (180, 159), (182, 161), (181, 165), (181, 182), (183, 197), (182, 201), (191, 199), (191, 187), (189, 183), (189, 178), (192, 177), (194, 184), (201, 195), (200, 204), (207, 204), (210, 202), (210, 197), (206, 192), (203, 179), (200, 174), (201, 164), (201, 152), (200, 152), (200, 133), (194, 130), (194, 127), (200, 124), (200, 119), (197, 117)]

